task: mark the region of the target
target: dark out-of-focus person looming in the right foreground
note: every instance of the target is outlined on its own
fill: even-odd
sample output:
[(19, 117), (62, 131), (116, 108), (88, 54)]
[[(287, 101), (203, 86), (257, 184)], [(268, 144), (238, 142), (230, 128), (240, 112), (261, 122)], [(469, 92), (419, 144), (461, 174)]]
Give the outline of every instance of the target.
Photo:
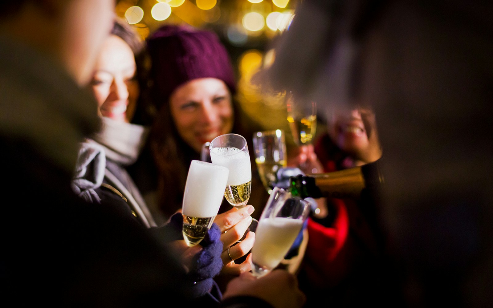
[(492, 3), (473, 2), (306, 0), (270, 69), (378, 116), (382, 224), (416, 306), (492, 305)]

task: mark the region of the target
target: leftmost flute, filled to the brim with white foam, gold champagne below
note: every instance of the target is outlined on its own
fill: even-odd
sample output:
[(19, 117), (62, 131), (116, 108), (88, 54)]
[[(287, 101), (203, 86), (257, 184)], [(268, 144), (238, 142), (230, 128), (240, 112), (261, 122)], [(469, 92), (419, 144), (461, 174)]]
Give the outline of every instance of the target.
[(211, 228), (228, 180), (229, 170), (222, 166), (193, 160), (183, 194), (183, 239), (197, 245)]

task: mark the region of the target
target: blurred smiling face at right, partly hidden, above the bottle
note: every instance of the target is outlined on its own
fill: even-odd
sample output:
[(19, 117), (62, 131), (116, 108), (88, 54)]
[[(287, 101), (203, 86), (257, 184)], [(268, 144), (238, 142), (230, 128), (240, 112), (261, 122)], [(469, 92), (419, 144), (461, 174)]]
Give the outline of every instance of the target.
[(375, 114), (369, 109), (333, 112), (328, 121), (328, 133), (332, 141), (355, 160), (372, 161), (381, 156)]

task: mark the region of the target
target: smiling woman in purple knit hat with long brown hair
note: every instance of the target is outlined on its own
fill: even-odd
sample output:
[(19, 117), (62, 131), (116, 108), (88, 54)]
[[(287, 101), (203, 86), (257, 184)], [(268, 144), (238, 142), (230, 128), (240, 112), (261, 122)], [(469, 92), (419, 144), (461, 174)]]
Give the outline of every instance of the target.
[[(240, 125), (239, 108), (232, 99), (236, 90), (233, 67), (216, 34), (190, 26), (165, 25), (148, 37), (147, 52), (151, 61), (147, 107), (154, 110), (155, 117), (133, 175), (153, 216), (161, 217), (162, 221), (157, 221), (160, 224), (181, 209), (188, 167), (192, 160), (200, 159), (203, 144), (231, 132), (250, 141), (253, 129), (246, 131)], [(252, 173), (255, 176), (256, 172)], [(259, 179), (252, 178), (252, 186), (255, 181), (261, 185)], [(256, 191), (266, 194), (264, 189)], [(230, 205), (224, 205), (220, 212), (229, 209)], [(247, 205), (238, 212), (250, 215), (253, 210)], [(224, 243), (233, 244), (243, 235), (227, 233), (227, 224), (223, 225)], [(244, 231), (248, 225), (245, 221)], [(222, 258), (229, 274), (250, 270), (249, 262), (235, 264), (234, 260), (246, 255), (254, 236), (249, 232), (240, 244), (224, 245)]]

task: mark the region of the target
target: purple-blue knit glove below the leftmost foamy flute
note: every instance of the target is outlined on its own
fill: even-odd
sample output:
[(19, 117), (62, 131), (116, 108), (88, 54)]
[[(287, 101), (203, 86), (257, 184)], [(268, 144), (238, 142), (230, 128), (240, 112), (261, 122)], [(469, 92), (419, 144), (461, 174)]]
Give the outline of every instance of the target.
[(203, 249), (192, 260), (192, 266), (188, 277), (193, 283), (193, 293), (196, 297), (203, 296), (211, 291), (212, 278), (222, 269), (222, 242), (221, 231), (217, 224), (212, 224), (204, 240), (200, 242)]

